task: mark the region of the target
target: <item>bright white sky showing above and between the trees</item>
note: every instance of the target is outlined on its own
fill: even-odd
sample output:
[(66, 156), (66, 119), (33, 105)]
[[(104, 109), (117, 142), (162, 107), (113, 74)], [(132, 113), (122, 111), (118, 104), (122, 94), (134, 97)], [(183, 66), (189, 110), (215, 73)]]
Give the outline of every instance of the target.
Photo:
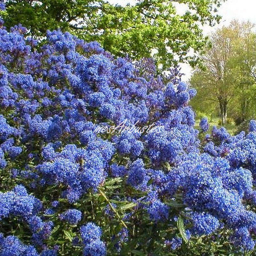
[[(111, 4), (125, 5), (127, 3), (134, 4), (136, 0), (108, 0)], [(182, 10), (178, 10), (182, 11)], [(204, 35), (209, 35), (217, 28), (227, 26), (232, 20), (251, 21), (256, 24), (256, 0), (227, 0), (222, 3), (219, 8), (219, 15), (222, 16), (220, 24), (214, 27), (204, 26)], [(187, 64), (180, 64), (181, 72), (185, 74), (183, 79), (186, 81), (190, 78), (192, 69)]]

